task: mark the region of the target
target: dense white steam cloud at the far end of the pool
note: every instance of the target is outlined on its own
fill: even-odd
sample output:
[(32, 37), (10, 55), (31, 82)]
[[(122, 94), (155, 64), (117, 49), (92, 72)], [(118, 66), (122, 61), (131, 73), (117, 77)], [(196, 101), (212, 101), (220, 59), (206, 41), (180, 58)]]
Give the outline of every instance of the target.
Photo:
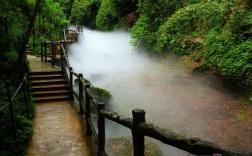
[(123, 31), (104, 33), (85, 29), (80, 44), (71, 46), (69, 60), (76, 71), (104, 87), (105, 79), (131, 75), (146, 68), (146, 57), (134, 52), (129, 41), (130, 35)]

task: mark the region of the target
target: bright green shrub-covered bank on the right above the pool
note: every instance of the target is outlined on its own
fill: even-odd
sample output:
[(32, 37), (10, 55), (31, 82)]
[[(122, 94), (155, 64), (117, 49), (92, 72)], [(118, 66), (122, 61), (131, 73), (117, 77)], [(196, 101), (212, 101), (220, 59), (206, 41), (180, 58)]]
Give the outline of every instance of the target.
[(133, 45), (200, 60), (238, 86), (251, 83), (251, 1), (139, 0), (140, 18), (130, 30)]

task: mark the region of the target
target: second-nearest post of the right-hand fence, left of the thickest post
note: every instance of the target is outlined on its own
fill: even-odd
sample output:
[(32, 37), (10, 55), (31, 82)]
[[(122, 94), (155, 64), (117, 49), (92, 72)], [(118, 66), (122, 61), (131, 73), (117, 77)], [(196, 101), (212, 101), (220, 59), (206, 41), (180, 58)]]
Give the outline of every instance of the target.
[(105, 118), (100, 114), (101, 110), (105, 110), (104, 103), (98, 103), (98, 151), (97, 154), (99, 156), (103, 156), (105, 154)]

